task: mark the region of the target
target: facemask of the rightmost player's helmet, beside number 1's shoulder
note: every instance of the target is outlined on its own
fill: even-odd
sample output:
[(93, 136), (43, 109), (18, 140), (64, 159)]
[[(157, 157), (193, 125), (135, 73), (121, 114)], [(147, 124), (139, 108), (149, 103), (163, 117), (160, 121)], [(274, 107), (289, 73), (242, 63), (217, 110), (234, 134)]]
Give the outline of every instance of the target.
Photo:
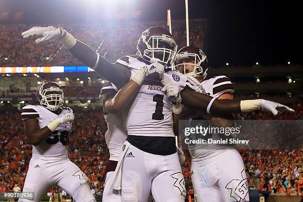
[[(184, 62), (186, 61), (186, 62)], [(191, 62), (189, 62), (191, 61)], [(183, 63), (184, 62), (184, 63)], [(194, 65), (193, 71), (187, 72), (187, 65)], [(178, 70), (182, 74), (191, 75), (195, 77), (202, 77), (203, 79), (207, 76), (207, 58), (206, 55), (200, 56), (197, 53), (180, 52), (178, 53), (172, 64), (173, 70)], [(205, 70), (203, 70), (205, 69)], [(182, 71), (182, 72), (181, 72)]]

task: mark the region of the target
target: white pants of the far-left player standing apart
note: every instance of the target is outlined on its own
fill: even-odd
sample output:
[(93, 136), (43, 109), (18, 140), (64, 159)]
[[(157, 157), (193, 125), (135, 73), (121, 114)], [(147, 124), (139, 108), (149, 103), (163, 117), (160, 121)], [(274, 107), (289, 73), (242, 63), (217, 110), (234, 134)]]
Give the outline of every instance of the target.
[(90, 180), (68, 158), (43, 160), (32, 157), (26, 174), (23, 192), (34, 192), (19, 202), (40, 202), (51, 186), (59, 186), (76, 202), (96, 202), (89, 186)]

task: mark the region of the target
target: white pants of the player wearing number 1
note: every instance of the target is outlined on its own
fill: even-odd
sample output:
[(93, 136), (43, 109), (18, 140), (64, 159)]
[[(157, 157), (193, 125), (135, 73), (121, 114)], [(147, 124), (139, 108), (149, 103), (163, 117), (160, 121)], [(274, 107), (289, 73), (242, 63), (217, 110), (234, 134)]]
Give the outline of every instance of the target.
[(177, 152), (155, 155), (129, 146), (122, 165), (122, 202), (184, 202), (186, 190)]

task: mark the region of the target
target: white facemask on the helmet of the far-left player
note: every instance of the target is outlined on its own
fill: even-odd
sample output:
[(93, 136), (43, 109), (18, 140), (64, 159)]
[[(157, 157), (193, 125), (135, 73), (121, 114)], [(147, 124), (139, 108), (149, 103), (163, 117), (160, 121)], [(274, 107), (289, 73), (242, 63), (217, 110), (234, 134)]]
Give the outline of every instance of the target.
[(40, 104), (51, 111), (56, 111), (63, 105), (63, 91), (59, 87), (51, 86), (50, 88), (39, 91)]

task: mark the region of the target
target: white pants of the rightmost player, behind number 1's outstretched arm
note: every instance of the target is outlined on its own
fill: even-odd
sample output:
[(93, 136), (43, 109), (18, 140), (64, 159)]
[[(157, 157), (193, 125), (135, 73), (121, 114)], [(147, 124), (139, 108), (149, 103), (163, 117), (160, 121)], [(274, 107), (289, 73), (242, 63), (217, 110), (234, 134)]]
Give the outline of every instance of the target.
[(245, 167), (237, 150), (192, 162), (195, 202), (249, 202)]

